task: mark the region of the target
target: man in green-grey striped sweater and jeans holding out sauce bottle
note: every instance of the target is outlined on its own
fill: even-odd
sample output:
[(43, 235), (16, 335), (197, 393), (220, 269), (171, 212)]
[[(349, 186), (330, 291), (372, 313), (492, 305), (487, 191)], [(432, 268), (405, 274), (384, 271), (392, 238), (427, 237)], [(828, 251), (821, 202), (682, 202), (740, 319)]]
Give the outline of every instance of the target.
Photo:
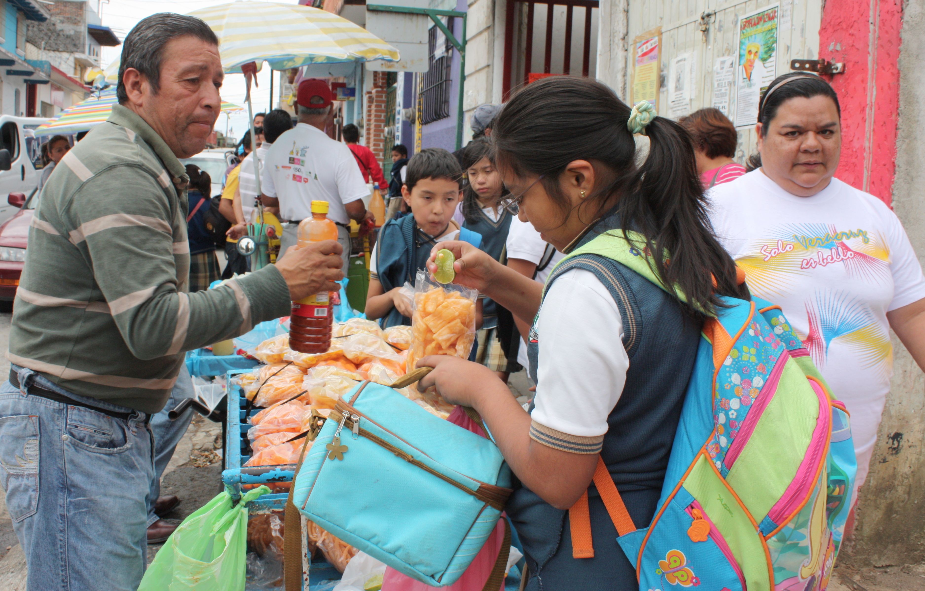
[(342, 277), (328, 241), (187, 293), (178, 158), (203, 149), (222, 78), (202, 20), (145, 18), (123, 44), (112, 116), (43, 189), (0, 387), (0, 479), (31, 591), (138, 586), (154, 477), (148, 421), (183, 352), (287, 314), (290, 299)]

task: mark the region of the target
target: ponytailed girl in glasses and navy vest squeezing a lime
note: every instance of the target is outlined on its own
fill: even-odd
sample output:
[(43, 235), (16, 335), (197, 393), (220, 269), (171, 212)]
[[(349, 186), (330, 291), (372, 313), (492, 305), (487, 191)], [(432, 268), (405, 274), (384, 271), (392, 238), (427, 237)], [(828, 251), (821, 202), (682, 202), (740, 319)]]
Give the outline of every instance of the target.
[[(635, 133), (649, 139), (640, 165)], [(635, 565), (618, 546), (600, 497), (587, 497), (593, 559), (573, 558), (566, 510), (591, 484), (599, 455), (636, 527), (651, 522), (703, 312), (721, 306), (720, 295), (748, 295), (709, 230), (690, 139), (683, 127), (654, 116), (649, 103), (631, 109), (593, 79), (544, 78), (505, 105), (491, 137), (511, 190), (505, 207), (564, 253), (604, 233), (638, 233), (639, 250), (673, 288), (598, 257), (622, 295), (604, 275), (567, 265), (549, 276), (543, 296), (539, 283), (481, 250), (438, 244), (456, 256), (456, 283), (533, 322), (536, 398), (527, 413), (487, 368), (445, 356), (420, 362), (435, 368), (421, 385), (474, 407), (518, 477), (521, 488), (506, 511), (524, 546), (527, 589), (635, 589)]]

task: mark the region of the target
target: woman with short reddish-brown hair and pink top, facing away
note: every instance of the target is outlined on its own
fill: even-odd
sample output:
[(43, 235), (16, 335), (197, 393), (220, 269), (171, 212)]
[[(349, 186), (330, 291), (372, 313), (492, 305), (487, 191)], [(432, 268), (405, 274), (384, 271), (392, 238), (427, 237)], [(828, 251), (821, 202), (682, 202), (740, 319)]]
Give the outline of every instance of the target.
[(697, 175), (704, 188), (722, 185), (746, 174), (746, 168), (733, 160), (739, 137), (733, 122), (712, 107), (681, 117), (678, 123), (694, 142)]

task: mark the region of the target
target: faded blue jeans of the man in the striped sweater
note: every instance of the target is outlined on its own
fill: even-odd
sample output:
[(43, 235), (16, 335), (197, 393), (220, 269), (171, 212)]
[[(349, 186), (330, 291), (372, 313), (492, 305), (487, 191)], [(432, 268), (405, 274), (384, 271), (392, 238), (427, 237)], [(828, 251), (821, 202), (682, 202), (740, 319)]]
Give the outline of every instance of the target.
[[(147, 416), (14, 369), (22, 390), (0, 386), (0, 484), (29, 565), (29, 591), (134, 591), (146, 565), (156, 476)], [(129, 419), (29, 396), (33, 384)]]

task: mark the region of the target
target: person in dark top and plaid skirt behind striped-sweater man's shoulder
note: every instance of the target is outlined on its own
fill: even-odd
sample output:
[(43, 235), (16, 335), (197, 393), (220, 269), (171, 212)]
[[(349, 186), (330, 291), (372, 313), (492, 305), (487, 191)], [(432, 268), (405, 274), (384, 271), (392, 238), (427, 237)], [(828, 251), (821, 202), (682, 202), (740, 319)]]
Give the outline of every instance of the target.
[(190, 293), (208, 289), (221, 276), (216, 257), (216, 243), (205, 228), (205, 212), (212, 204), (209, 192), (212, 178), (195, 164), (186, 165), (190, 175), (187, 191), (190, 209), (186, 214), (187, 235), (190, 241)]

